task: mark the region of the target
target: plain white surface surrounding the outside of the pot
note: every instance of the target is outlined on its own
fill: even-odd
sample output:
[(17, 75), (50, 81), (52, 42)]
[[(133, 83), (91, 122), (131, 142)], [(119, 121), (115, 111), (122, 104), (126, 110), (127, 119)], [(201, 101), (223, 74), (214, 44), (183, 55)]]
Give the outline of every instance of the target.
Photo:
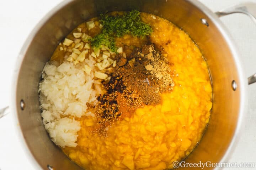
[[(212, 11), (247, 0), (201, 0)], [(0, 1), (0, 108), (10, 101), (12, 70), (21, 46), (38, 21), (61, 0)], [(256, 1), (255, 1), (256, 2)], [(246, 76), (256, 73), (256, 25), (249, 17), (234, 14), (221, 18), (233, 35), (241, 52)], [(249, 110), (245, 114), (244, 131), (229, 162), (256, 163), (256, 84), (249, 86)], [(15, 136), (11, 115), (0, 119), (0, 170), (35, 170), (27, 160)], [(242, 168), (236, 168), (242, 169)], [(256, 169), (256, 168), (250, 168)], [(225, 169), (226, 170), (226, 169)]]

